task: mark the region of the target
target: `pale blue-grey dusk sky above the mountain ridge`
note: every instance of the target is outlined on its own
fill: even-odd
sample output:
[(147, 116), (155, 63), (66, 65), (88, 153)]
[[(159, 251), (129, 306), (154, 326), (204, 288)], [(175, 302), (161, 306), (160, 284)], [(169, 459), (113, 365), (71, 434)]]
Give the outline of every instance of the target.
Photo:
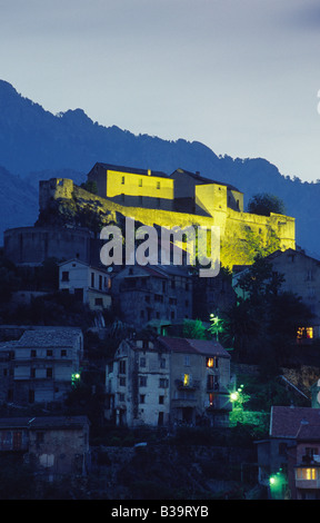
[(82, 108), (107, 127), (320, 178), (319, 1), (0, 0), (0, 78), (46, 110)]

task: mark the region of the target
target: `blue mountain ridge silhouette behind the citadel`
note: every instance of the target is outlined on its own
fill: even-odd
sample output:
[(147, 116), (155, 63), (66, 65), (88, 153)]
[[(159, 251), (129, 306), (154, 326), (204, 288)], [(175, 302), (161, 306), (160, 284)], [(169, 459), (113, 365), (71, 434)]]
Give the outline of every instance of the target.
[(244, 204), (254, 194), (274, 194), (297, 219), (299, 246), (320, 258), (320, 184), (292, 180), (262, 158), (218, 157), (198, 141), (170, 141), (103, 127), (82, 109), (54, 116), (0, 80), (1, 236), (6, 228), (36, 221), (39, 179), (61, 176), (80, 184), (97, 161), (168, 174), (178, 167), (200, 171), (238, 187), (244, 193)]

